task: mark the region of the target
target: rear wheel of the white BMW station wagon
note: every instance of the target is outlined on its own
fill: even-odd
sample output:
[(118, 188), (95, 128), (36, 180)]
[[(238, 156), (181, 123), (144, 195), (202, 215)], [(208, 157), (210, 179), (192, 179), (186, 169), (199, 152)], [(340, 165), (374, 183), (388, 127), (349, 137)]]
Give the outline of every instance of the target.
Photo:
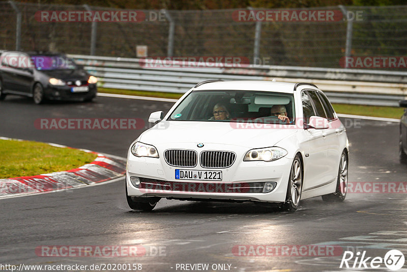
[(322, 196), (322, 200), (326, 202), (342, 202), (345, 200), (348, 182), (347, 170), (348, 157), (346, 151), (343, 150), (339, 161), (338, 178), (336, 180), (336, 191), (335, 193)]

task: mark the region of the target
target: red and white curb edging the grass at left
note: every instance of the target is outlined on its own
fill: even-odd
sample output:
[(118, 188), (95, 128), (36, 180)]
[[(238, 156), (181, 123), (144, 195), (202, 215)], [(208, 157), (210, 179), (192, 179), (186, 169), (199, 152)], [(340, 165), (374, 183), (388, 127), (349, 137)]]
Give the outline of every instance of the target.
[[(0, 140), (15, 140), (0, 137)], [(64, 145), (47, 143), (55, 147), (70, 148)], [(31, 177), (0, 179), (0, 199), (31, 194), (50, 193), (86, 185), (96, 185), (121, 178), (126, 173), (126, 159), (113, 155), (105, 155), (94, 151), (79, 149), (97, 154), (90, 164), (68, 171), (41, 174)]]

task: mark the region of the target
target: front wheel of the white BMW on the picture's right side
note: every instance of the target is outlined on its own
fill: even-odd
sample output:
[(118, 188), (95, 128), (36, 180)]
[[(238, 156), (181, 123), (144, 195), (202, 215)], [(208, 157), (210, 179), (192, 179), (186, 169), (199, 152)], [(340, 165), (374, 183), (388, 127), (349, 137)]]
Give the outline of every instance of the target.
[(302, 193), (303, 171), (300, 156), (296, 155), (288, 178), (285, 202), (280, 206), (283, 210), (296, 211), (299, 207)]

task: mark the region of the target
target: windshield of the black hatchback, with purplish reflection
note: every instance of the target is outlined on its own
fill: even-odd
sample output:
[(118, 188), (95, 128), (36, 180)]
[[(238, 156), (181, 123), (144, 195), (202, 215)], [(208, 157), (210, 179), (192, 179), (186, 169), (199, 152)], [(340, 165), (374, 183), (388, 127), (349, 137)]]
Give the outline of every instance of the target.
[(75, 62), (65, 56), (32, 56), (37, 70), (76, 69)]

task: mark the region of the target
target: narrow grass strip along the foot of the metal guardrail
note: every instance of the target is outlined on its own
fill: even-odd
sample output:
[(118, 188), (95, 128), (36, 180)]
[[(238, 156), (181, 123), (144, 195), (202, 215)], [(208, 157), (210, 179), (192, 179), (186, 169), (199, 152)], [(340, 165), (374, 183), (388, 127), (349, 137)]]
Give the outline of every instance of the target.
[[(112, 93), (112, 94), (127, 94), (137, 96), (150, 96), (161, 98), (173, 98), (179, 99), (183, 94), (179, 93), (164, 93), (164, 92), (149, 92), (149, 91), (131, 91), (121, 89), (106, 89), (98, 88), (98, 92)], [(384, 118), (399, 119), (404, 112), (402, 107), (390, 107), (390, 106), (367, 106), (367, 105), (351, 105), (351, 104), (332, 104), (336, 113), (339, 114), (352, 114), (363, 116), (374, 116)]]

